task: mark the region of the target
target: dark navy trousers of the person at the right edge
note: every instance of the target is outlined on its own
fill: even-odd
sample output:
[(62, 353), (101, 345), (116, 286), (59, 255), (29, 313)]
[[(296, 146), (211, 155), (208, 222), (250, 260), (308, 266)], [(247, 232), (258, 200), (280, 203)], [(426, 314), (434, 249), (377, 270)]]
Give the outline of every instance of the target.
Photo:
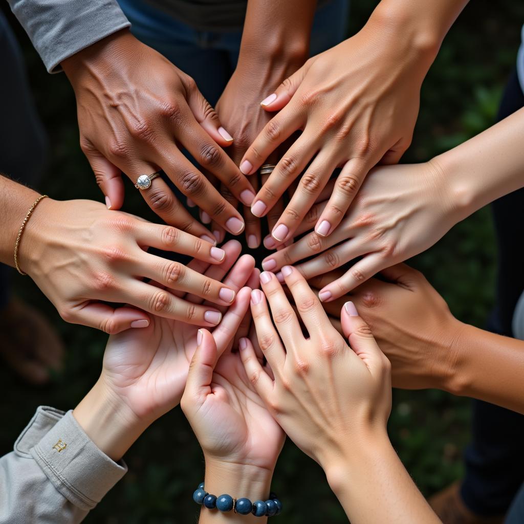
[[(515, 71), (499, 108), (501, 120), (524, 106)], [(494, 173), (496, 176), (496, 173)], [(496, 305), (487, 329), (512, 336), (511, 320), (524, 289), (524, 189), (493, 203), (497, 234)], [(479, 515), (503, 514), (524, 479), (524, 416), (487, 402), (475, 401), (473, 439), (465, 453), (462, 496)]]

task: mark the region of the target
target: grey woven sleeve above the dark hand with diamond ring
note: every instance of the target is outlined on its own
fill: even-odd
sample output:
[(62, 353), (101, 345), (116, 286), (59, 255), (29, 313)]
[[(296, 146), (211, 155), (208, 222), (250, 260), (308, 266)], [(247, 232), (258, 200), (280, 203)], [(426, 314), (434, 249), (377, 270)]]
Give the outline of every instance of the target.
[(50, 73), (129, 21), (116, 0), (7, 0)]

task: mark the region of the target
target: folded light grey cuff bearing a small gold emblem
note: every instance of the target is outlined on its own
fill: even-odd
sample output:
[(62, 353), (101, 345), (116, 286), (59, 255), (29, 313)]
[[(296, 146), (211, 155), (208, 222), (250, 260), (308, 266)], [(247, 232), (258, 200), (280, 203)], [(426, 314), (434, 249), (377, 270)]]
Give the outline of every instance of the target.
[(86, 435), (68, 411), (30, 449), (53, 486), (72, 504), (90, 510), (125, 475)]

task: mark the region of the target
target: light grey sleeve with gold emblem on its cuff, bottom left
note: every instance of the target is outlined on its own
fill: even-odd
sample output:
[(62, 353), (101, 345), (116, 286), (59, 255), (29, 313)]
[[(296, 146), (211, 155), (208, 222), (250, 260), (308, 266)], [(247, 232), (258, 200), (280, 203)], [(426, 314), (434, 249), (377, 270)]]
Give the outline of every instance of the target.
[(14, 451), (0, 458), (0, 524), (81, 522), (126, 471), (72, 411), (39, 407)]

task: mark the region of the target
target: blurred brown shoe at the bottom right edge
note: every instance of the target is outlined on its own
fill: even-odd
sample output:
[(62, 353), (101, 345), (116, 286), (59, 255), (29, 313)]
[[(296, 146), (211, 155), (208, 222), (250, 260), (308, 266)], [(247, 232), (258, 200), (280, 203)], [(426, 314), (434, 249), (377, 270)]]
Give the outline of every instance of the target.
[(503, 524), (504, 515), (483, 517), (467, 508), (460, 495), (460, 486), (461, 482), (457, 481), (428, 499), (443, 524)]

